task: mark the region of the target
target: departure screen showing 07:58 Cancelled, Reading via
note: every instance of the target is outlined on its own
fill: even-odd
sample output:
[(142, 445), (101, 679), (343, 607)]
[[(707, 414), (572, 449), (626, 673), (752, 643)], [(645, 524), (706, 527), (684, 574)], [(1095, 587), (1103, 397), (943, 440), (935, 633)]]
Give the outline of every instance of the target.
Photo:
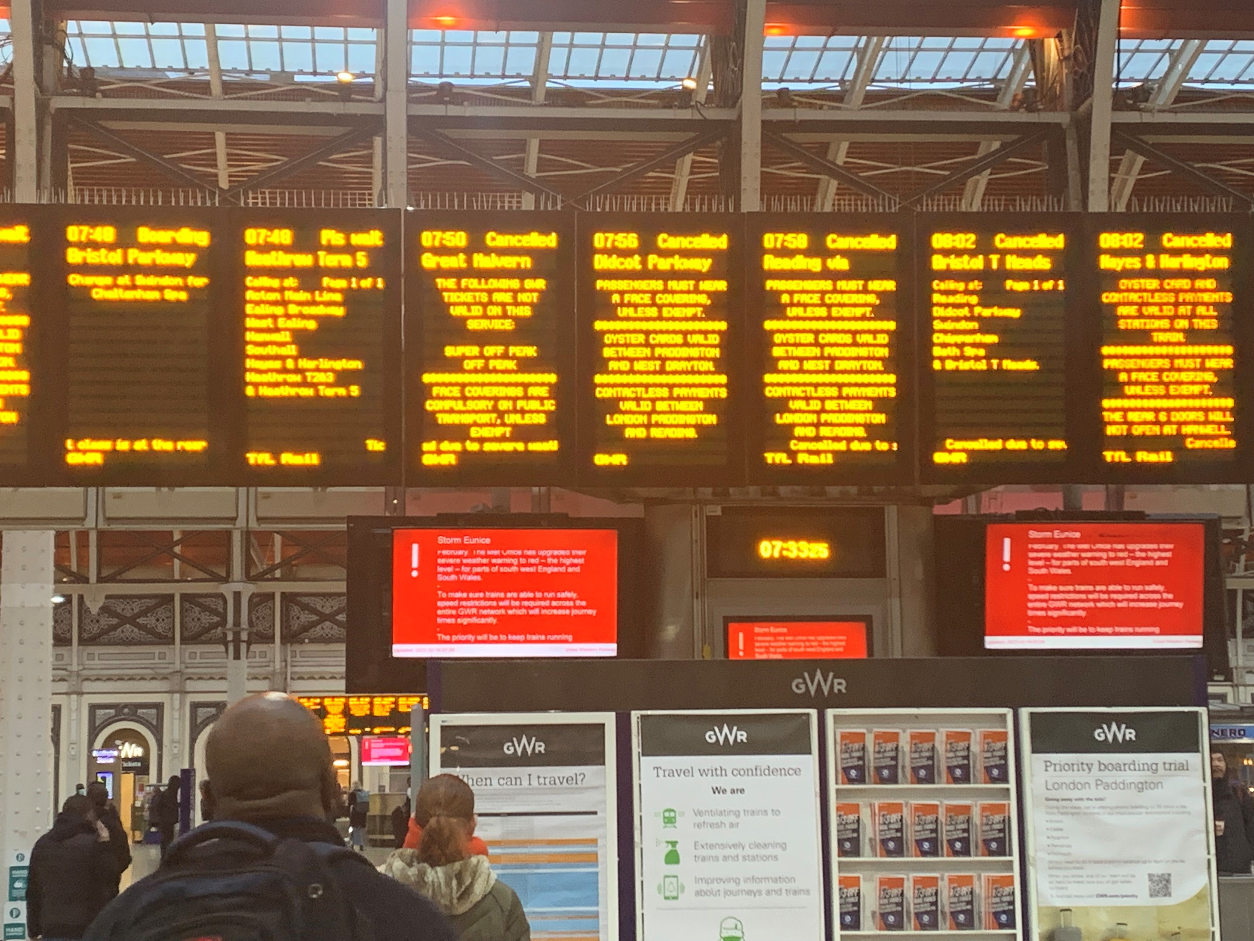
[(751, 481), (913, 476), (903, 447), (913, 423), (902, 422), (909, 232), (893, 216), (752, 218), (747, 343), (761, 398)]

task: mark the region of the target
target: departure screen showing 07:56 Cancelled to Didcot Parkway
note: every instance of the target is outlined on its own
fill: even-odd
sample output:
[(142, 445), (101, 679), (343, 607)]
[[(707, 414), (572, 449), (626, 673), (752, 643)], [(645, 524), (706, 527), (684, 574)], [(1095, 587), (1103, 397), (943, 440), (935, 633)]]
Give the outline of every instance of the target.
[(579, 473), (717, 484), (744, 473), (736, 216), (579, 217)]

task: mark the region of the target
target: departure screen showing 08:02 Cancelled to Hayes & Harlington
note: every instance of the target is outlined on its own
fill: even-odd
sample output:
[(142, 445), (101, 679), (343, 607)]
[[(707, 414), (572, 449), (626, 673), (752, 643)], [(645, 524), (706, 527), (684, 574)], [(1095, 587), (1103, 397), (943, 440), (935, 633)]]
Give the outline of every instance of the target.
[(1127, 222), (1096, 236), (1102, 459), (1178, 472), (1231, 465), (1235, 233), (1190, 221)]

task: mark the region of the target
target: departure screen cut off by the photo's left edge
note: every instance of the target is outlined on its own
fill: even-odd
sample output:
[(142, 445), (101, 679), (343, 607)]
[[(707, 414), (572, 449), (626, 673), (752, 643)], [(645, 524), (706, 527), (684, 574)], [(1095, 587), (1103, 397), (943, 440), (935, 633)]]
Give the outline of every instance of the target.
[(0, 217), (0, 465), (30, 449), (30, 226)]

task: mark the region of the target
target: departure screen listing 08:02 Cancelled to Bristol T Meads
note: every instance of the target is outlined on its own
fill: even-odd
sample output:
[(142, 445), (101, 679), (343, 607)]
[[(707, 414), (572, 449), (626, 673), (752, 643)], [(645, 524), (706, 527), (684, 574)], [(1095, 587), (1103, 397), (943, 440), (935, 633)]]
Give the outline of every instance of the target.
[(993, 473), (1061, 465), (1067, 232), (1031, 218), (954, 221), (924, 232), (930, 463)]

